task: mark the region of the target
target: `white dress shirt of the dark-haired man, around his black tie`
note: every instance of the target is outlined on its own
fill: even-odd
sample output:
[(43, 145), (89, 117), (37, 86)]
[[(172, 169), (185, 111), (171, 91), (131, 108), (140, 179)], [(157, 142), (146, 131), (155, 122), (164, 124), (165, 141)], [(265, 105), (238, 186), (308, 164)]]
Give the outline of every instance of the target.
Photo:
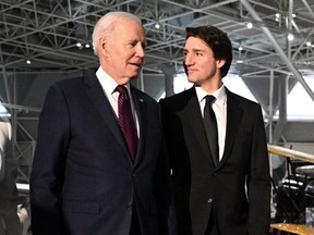
[(213, 102), (213, 110), (217, 120), (217, 128), (218, 128), (218, 145), (219, 145), (219, 160), (221, 160), (225, 149), (225, 139), (226, 139), (226, 128), (227, 128), (227, 94), (225, 86), (222, 85), (218, 90), (214, 94), (208, 94), (201, 87), (195, 87), (202, 116), (204, 118), (204, 108), (205, 108), (205, 97), (207, 95), (212, 95), (216, 98)]

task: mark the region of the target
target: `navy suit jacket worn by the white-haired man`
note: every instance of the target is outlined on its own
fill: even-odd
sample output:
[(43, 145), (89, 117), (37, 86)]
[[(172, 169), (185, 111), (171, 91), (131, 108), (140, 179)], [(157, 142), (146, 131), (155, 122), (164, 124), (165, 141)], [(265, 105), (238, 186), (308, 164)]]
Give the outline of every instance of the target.
[(135, 162), (95, 74), (53, 84), (31, 176), (34, 235), (167, 234), (169, 164), (158, 103), (131, 86), (140, 123)]

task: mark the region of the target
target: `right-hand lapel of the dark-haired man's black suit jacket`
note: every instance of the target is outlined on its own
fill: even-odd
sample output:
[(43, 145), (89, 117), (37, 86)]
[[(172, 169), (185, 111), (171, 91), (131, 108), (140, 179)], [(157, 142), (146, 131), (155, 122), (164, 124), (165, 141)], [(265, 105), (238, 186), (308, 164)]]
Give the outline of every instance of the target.
[(227, 131), (225, 151), (221, 161), (218, 165), (222, 165), (230, 156), (237, 133), (239, 131), (239, 123), (242, 119), (242, 109), (239, 106), (239, 99), (234, 94), (226, 88), (227, 92)]

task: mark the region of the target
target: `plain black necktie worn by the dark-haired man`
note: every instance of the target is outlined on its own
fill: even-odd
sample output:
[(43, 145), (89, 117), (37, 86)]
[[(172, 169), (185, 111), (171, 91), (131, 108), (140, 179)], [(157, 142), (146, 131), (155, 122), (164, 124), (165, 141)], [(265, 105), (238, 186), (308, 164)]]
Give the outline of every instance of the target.
[(204, 108), (204, 127), (214, 164), (217, 165), (219, 162), (218, 129), (216, 115), (212, 107), (212, 103), (216, 98), (214, 96), (206, 96), (205, 99), (206, 104)]

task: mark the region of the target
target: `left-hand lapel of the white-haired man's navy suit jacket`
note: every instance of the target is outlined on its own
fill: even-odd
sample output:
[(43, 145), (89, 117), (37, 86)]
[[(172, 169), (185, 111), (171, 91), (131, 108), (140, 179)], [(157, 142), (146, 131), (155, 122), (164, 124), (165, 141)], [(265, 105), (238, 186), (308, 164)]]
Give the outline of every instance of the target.
[(119, 124), (117, 122), (117, 118), (114, 115), (114, 112), (111, 108), (108, 98), (106, 97), (102, 90), (102, 87), (98, 78), (96, 77), (95, 74), (90, 74), (85, 77), (85, 84), (89, 87), (87, 89), (87, 96), (89, 97), (90, 101), (95, 104), (96, 109), (102, 116), (104, 122), (107, 124), (108, 128), (112, 132), (118, 143), (124, 149), (125, 153), (129, 154), (129, 151), (124, 144), (123, 136), (119, 128)]

